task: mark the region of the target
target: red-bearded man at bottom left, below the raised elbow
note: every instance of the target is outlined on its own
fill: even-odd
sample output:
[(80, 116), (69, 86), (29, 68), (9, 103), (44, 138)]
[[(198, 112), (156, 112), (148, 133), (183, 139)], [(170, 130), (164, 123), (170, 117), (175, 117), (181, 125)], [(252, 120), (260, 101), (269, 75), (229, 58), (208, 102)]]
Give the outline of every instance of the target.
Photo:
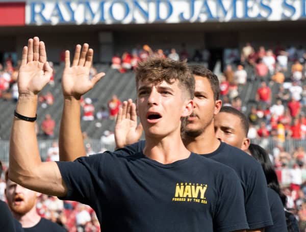
[[(18, 220), (26, 232), (48, 232), (66, 231), (63, 227), (40, 217), (36, 211), (37, 197), (41, 194), (12, 182), (8, 178), (8, 171), (5, 174), (7, 184), (5, 195), (13, 216)], [(6, 230), (10, 231), (10, 230)]]

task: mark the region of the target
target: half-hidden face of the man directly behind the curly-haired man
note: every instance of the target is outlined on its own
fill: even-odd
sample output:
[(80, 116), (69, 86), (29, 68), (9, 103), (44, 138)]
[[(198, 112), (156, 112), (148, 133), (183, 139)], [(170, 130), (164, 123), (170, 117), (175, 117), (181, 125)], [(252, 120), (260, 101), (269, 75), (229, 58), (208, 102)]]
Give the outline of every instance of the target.
[(186, 126), (186, 135), (191, 137), (203, 133), (213, 123), (213, 118), (221, 107), (221, 101), (214, 99), (214, 92), (209, 80), (198, 75), (194, 75), (194, 79), (193, 112), (188, 117)]

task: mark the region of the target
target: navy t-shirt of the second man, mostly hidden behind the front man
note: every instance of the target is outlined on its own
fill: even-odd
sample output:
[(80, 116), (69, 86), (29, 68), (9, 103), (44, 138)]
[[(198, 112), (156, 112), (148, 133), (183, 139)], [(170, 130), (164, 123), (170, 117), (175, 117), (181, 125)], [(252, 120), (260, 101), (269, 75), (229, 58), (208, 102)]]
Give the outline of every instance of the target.
[[(145, 141), (118, 149), (115, 152), (132, 154), (142, 151)], [(240, 178), (244, 192), (244, 204), (247, 222), (250, 229), (263, 228), (273, 225), (267, 196), (267, 182), (261, 165), (247, 153), (221, 142), (220, 146), (212, 153), (202, 154), (206, 157), (231, 167)]]

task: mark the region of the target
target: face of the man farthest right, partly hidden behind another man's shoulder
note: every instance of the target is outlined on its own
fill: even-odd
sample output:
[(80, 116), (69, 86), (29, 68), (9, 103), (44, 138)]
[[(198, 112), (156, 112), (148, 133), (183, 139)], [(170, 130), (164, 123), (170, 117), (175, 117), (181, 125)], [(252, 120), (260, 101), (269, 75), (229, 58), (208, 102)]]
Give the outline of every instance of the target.
[(221, 112), (214, 119), (216, 137), (222, 142), (242, 150), (248, 148), (244, 145), (245, 132), (238, 116)]

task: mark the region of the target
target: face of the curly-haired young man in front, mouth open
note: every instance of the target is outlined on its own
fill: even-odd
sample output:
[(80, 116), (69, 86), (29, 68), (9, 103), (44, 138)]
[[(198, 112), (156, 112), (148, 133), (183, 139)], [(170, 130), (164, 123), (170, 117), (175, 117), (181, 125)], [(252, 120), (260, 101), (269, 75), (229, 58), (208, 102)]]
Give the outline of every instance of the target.
[(172, 84), (139, 82), (137, 113), (149, 137), (165, 137), (180, 132), (181, 117), (192, 112), (193, 102), (178, 81)]

